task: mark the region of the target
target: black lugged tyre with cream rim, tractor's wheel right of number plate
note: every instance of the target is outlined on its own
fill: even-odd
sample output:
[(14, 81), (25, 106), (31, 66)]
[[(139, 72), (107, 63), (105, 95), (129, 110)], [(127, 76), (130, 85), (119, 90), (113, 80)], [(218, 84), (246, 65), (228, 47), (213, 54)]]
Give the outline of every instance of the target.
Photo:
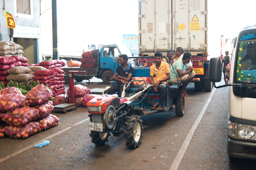
[(125, 130), (123, 132), (124, 140), (128, 148), (138, 148), (141, 144), (142, 137), (142, 120), (141, 116), (131, 115), (126, 117)]

